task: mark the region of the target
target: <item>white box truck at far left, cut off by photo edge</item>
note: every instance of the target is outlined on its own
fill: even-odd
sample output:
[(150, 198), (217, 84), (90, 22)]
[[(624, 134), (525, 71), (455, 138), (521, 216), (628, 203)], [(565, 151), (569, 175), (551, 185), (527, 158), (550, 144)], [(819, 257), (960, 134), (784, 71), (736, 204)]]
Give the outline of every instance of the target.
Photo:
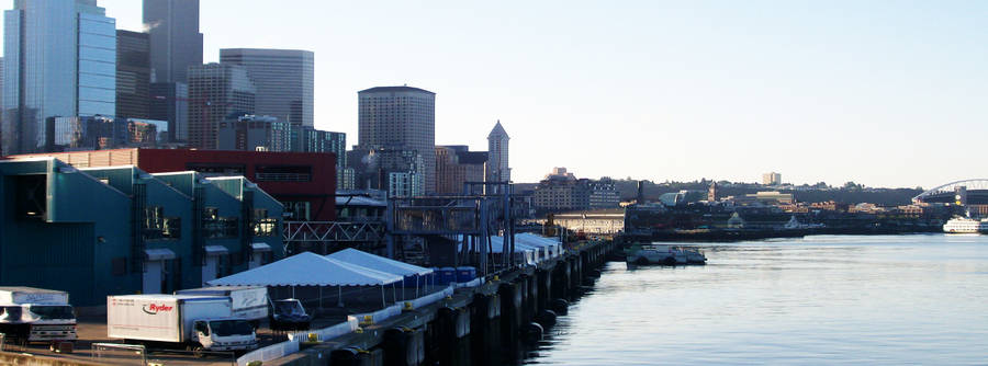
[(0, 287), (0, 333), (10, 342), (48, 343), (76, 341), (76, 312), (68, 293)]

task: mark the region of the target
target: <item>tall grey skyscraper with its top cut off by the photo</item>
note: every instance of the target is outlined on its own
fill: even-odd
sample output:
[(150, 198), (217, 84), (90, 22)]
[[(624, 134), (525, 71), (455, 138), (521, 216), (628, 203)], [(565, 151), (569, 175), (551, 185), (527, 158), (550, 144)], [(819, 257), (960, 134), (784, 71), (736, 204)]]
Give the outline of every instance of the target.
[(202, 65), (199, 0), (144, 0), (144, 27), (150, 34), (153, 81), (188, 83), (189, 67)]

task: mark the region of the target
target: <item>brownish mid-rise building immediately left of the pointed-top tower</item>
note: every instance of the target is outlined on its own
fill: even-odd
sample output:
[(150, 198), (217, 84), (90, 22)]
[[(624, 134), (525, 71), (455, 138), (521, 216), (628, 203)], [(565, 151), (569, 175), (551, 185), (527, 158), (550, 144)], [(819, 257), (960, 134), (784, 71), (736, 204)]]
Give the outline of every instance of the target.
[(484, 182), (487, 151), (470, 151), (464, 145), (436, 147), (436, 193), (463, 194), (463, 183)]

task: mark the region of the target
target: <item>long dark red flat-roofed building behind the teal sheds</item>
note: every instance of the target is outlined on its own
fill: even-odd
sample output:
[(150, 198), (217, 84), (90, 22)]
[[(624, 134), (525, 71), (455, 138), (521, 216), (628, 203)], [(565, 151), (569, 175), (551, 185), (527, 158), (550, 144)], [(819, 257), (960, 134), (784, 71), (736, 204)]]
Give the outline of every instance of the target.
[(332, 153), (116, 149), (44, 153), (76, 168), (135, 165), (151, 173), (194, 171), (204, 178), (246, 176), (284, 205), (291, 220), (336, 219), (336, 157)]

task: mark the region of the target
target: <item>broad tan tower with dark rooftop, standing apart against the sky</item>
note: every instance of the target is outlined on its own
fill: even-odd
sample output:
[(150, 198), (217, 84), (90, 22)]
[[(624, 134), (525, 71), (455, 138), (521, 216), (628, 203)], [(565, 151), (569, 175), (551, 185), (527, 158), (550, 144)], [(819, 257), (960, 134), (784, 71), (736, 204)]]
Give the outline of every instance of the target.
[(358, 94), (358, 149), (412, 150), (422, 158), (423, 191), (436, 192), (436, 93), (378, 87)]

